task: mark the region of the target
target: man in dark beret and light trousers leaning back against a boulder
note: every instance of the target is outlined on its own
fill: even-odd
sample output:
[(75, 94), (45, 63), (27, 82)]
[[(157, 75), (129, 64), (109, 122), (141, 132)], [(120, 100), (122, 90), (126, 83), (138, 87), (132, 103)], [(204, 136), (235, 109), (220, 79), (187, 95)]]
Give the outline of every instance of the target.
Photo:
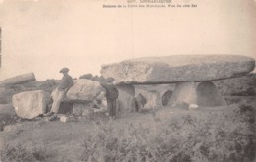
[(60, 70), (60, 73), (63, 73), (63, 78), (59, 86), (51, 94), (53, 98), (51, 111), (44, 114), (44, 116), (50, 116), (49, 120), (53, 120), (57, 117), (57, 113), (59, 112), (61, 101), (63, 100), (65, 94), (68, 92), (70, 87), (73, 86), (73, 79), (68, 74), (68, 72), (69, 72), (68, 68), (62, 68)]

